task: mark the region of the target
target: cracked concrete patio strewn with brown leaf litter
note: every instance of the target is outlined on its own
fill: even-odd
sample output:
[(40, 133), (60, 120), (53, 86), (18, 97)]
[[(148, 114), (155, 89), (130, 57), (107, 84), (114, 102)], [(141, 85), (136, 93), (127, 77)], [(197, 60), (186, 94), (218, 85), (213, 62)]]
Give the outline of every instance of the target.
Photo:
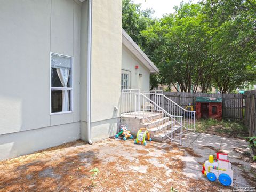
[[(182, 146), (164, 141), (134, 145), (109, 138), (66, 143), (0, 162), (0, 191), (217, 191), (256, 187), (256, 164), (246, 141), (186, 133)], [(209, 154), (229, 154), (234, 188), (201, 173)], [(94, 179), (89, 171), (100, 170)]]

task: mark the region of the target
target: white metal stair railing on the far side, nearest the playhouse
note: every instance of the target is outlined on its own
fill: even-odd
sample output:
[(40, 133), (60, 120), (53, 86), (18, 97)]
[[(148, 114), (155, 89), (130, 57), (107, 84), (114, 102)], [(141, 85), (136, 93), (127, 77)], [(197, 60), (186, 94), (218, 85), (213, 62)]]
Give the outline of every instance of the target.
[(183, 117), (182, 127), (195, 132), (196, 111), (189, 111), (167, 98), (164, 94), (157, 94), (157, 105), (161, 106), (171, 115)]

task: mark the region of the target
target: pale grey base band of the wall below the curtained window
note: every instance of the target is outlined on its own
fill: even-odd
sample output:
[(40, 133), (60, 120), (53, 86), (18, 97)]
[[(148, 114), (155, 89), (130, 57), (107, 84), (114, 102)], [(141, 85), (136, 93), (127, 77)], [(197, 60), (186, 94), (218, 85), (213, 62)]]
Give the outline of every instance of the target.
[(0, 135), (0, 161), (79, 139), (79, 122)]

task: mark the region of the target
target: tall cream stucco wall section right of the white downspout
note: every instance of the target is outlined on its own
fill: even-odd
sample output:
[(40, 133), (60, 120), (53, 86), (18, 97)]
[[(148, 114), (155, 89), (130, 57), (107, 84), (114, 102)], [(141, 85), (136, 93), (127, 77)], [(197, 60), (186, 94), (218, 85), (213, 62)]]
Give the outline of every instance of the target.
[[(116, 133), (120, 118), (122, 1), (92, 1), (92, 140)], [(117, 106), (118, 110), (114, 110)]]

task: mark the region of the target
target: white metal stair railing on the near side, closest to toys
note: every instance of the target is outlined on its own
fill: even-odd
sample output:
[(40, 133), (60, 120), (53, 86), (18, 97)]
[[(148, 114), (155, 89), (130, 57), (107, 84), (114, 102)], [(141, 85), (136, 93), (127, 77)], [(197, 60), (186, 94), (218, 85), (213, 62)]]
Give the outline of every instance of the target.
[(143, 93), (135, 94), (135, 106), (134, 115), (143, 117), (143, 123), (152, 124), (158, 133), (163, 133), (171, 142), (177, 141), (181, 145), (182, 116), (169, 114)]

